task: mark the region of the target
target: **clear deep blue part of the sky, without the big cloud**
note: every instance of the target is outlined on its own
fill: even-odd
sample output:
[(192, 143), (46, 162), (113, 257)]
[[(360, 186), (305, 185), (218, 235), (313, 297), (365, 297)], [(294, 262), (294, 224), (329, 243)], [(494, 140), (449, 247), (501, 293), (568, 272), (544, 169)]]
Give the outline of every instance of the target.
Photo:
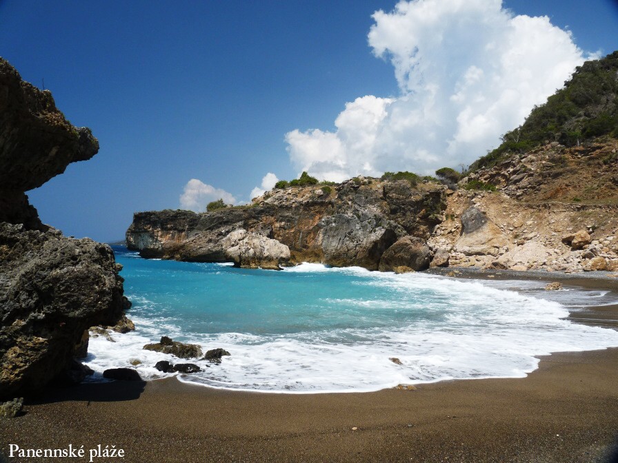
[[(568, 27), (583, 52), (618, 49), (614, 1), (503, 6)], [(240, 202), (268, 172), (289, 179), (307, 165), (319, 174), (325, 163), (302, 143), (348, 136), (337, 119), (348, 102), (372, 95), (371, 104), (390, 105), (388, 97), (408, 91), (395, 78), (395, 45), (380, 58), (379, 38), (368, 43), (372, 14), (394, 7), (379, 0), (0, 0), (0, 56), (26, 81), (41, 87), (44, 79), (59, 109), (92, 128), (101, 145), (92, 160), (29, 192), (30, 202), (65, 234), (108, 241), (123, 237), (133, 212), (178, 208), (190, 179)], [(290, 136), (295, 130), (300, 141)], [(342, 175), (361, 168), (346, 150)], [(410, 156), (370, 161), (374, 171), (415, 170)], [(452, 156), (444, 161), (455, 163)]]

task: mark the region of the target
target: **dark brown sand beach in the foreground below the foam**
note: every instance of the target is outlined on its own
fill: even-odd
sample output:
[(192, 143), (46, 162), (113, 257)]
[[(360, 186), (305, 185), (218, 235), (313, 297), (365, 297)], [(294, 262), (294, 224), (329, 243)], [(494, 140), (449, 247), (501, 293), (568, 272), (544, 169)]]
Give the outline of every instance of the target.
[(9, 444), (114, 444), (125, 458), (94, 461), (602, 462), (618, 436), (618, 349), (541, 357), (528, 378), (415, 391), (239, 393), (171, 378), (47, 391), (24, 410), (0, 420), (3, 455)]

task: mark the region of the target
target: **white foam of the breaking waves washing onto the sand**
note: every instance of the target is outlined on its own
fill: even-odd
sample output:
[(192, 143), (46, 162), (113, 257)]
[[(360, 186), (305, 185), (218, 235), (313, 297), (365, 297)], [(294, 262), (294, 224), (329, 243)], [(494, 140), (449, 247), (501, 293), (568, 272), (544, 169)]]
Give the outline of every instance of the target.
[[(136, 331), (112, 333), (117, 342), (90, 339), (87, 364), (100, 376), (104, 369), (131, 367), (132, 360), (139, 360), (141, 364), (134, 368), (142, 378), (155, 379), (170, 375), (154, 368), (159, 360), (193, 362), (203, 371), (179, 375), (181, 381), (264, 392), (354, 392), (447, 379), (521, 378), (537, 368), (536, 356), (618, 346), (617, 331), (564, 320), (568, 311), (559, 302), (481, 282), (425, 274), (369, 274), (365, 269), (329, 269), (315, 264), (286, 271), (350, 272), (363, 276), (363, 284), (401, 294), (400, 300), (323, 299), (335, 305), (422, 311), (435, 317), (395, 328), (326, 329), (286, 335), (201, 334), (183, 332), (177, 319), (148, 318), (137, 311), (130, 314)], [(144, 344), (170, 334), (200, 344), (204, 351), (221, 347), (232, 355), (223, 358), (220, 365), (212, 365), (142, 349)], [(390, 358), (398, 358), (401, 365)]]

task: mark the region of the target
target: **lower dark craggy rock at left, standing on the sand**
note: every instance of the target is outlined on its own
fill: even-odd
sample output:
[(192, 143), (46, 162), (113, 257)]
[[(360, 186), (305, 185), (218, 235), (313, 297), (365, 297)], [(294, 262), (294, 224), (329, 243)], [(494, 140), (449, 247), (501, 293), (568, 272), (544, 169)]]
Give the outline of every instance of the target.
[(126, 307), (108, 245), (0, 223), (0, 397), (69, 369), (83, 332)]

